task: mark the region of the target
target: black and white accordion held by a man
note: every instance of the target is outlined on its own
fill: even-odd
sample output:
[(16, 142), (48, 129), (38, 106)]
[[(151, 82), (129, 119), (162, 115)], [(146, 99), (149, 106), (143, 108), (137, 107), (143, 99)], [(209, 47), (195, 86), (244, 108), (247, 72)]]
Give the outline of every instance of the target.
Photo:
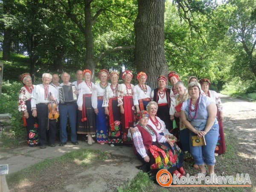
[(60, 94), (60, 103), (69, 103), (69, 102), (76, 102), (77, 97), (76, 94), (73, 93), (76, 90), (76, 86), (74, 84), (70, 85), (63, 85), (59, 88)]

